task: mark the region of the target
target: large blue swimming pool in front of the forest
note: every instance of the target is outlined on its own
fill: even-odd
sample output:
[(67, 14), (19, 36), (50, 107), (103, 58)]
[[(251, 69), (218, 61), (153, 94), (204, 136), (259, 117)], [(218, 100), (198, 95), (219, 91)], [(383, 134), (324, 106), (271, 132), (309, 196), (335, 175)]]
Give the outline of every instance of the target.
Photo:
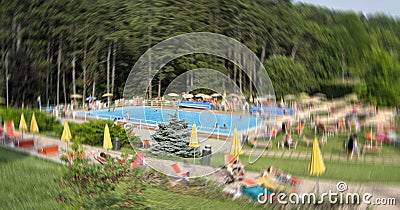
[[(151, 107), (124, 107), (117, 108), (115, 111), (111, 110), (96, 110), (87, 112), (76, 112), (76, 116), (87, 116), (90, 118), (114, 120), (124, 117), (125, 120), (130, 117), (130, 122), (157, 125), (158, 122), (166, 122), (171, 119), (170, 115), (174, 114), (176, 110), (151, 108)], [(222, 135), (230, 135), (233, 133), (234, 126), (238, 131), (244, 131), (249, 128), (254, 128), (262, 121), (261, 118), (252, 116), (241, 116), (231, 114), (217, 114), (211, 110), (187, 111), (178, 110), (178, 118), (185, 119), (191, 128), (193, 122), (196, 122), (198, 131), (206, 133), (219, 133)], [(216, 128), (218, 124), (219, 128)], [(224, 129), (226, 125), (226, 129)]]

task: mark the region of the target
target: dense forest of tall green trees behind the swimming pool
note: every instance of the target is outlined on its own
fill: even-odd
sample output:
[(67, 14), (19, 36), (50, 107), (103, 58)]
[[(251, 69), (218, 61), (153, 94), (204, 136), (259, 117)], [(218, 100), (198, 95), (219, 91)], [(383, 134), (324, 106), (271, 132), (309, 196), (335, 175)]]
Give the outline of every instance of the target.
[[(0, 0), (0, 97), (9, 75), (11, 106), (64, 104), (72, 94), (123, 94), (135, 61), (150, 47), (189, 32), (223, 34), (264, 66), (277, 97), (356, 92), (400, 104), (400, 20), (332, 11), (290, 0)], [(178, 75), (217, 69), (248, 97), (252, 78), (222, 58), (195, 54), (164, 66), (150, 97)], [(342, 90), (342, 91), (333, 91)], [(4, 100), (3, 100), (4, 102)]]

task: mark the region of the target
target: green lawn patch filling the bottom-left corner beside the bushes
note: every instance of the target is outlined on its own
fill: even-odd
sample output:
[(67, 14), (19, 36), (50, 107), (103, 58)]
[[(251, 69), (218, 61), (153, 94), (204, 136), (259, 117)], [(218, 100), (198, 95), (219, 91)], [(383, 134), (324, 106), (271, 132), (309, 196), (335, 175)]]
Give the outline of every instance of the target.
[(65, 209), (56, 196), (60, 165), (0, 147), (1, 209)]

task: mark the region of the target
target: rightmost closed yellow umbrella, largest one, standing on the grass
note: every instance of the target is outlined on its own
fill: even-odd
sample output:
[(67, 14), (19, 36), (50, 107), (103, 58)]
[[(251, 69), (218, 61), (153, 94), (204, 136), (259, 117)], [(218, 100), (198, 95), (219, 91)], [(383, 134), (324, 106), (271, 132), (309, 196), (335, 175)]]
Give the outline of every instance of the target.
[(319, 176), (325, 173), (324, 159), (322, 158), (321, 150), (319, 149), (318, 139), (314, 138), (313, 148), (311, 152), (311, 161), (308, 165), (310, 175), (317, 176), (316, 191), (319, 195)]

